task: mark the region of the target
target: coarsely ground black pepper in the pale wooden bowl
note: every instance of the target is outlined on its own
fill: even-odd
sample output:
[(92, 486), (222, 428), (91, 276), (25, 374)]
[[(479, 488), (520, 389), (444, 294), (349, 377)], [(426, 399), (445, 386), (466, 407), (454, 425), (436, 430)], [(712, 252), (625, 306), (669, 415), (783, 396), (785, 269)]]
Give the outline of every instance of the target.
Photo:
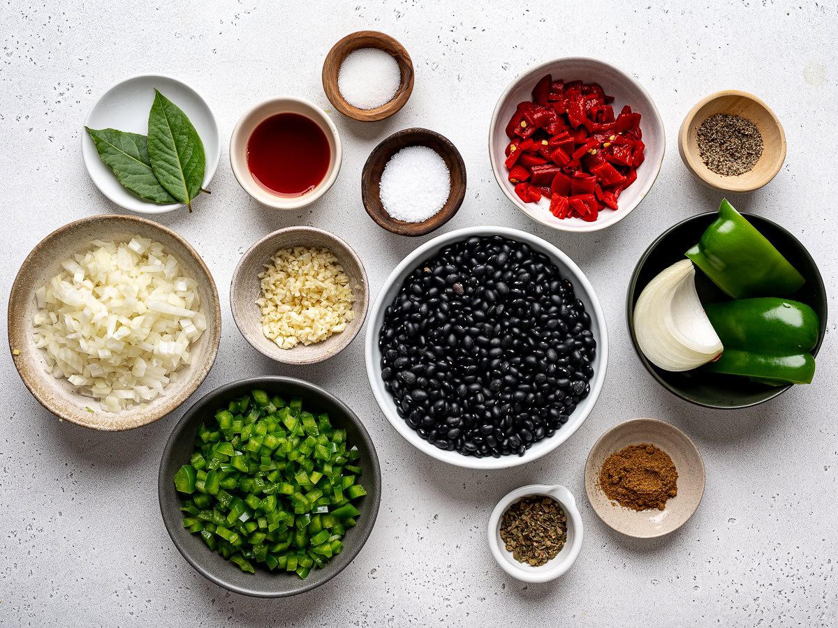
[(750, 171), (763, 154), (763, 136), (757, 126), (741, 116), (717, 113), (698, 127), (701, 161), (722, 177)]

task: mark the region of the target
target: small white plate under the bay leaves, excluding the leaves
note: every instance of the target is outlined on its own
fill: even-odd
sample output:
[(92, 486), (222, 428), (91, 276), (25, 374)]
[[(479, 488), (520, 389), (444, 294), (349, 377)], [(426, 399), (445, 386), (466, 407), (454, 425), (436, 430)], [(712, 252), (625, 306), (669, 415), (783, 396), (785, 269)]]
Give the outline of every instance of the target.
[[(206, 100), (183, 81), (165, 75), (136, 75), (121, 80), (96, 100), (96, 105), (85, 118), (85, 126), (147, 135), (148, 112), (154, 102), (155, 88), (184, 111), (195, 131), (198, 131), (201, 142), (204, 142), (206, 167), (203, 187), (209, 188), (221, 158), (218, 124)], [(163, 214), (184, 207), (184, 203), (152, 203), (128, 191), (101, 160), (96, 144), (84, 128), (81, 129), (81, 156), (96, 188), (120, 207), (139, 214)]]

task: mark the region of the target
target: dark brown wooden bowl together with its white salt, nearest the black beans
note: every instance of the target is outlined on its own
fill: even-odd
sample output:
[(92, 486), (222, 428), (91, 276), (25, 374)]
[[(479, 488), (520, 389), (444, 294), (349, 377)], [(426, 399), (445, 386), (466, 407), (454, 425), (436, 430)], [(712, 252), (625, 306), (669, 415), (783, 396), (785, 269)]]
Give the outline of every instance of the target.
[(364, 164), (361, 198), (370, 218), (399, 235), (425, 235), (457, 214), (466, 166), (446, 137), (405, 129), (382, 141)]

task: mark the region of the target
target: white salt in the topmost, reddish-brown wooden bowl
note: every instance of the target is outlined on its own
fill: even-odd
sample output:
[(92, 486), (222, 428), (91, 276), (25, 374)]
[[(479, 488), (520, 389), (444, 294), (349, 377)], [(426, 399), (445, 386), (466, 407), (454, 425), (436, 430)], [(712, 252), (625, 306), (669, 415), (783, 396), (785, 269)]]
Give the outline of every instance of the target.
[(353, 50), (338, 70), (340, 95), (359, 109), (375, 109), (390, 102), (400, 84), (398, 61), (377, 48)]

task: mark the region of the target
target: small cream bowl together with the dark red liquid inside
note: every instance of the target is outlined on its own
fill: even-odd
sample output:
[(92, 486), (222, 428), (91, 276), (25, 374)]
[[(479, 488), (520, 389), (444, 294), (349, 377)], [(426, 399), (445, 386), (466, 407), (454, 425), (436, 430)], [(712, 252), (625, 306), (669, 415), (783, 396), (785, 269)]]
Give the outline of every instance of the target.
[(328, 192), (343, 160), (338, 129), (314, 103), (284, 96), (241, 116), (230, 136), (230, 167), (251, 197), (297, 209)]

